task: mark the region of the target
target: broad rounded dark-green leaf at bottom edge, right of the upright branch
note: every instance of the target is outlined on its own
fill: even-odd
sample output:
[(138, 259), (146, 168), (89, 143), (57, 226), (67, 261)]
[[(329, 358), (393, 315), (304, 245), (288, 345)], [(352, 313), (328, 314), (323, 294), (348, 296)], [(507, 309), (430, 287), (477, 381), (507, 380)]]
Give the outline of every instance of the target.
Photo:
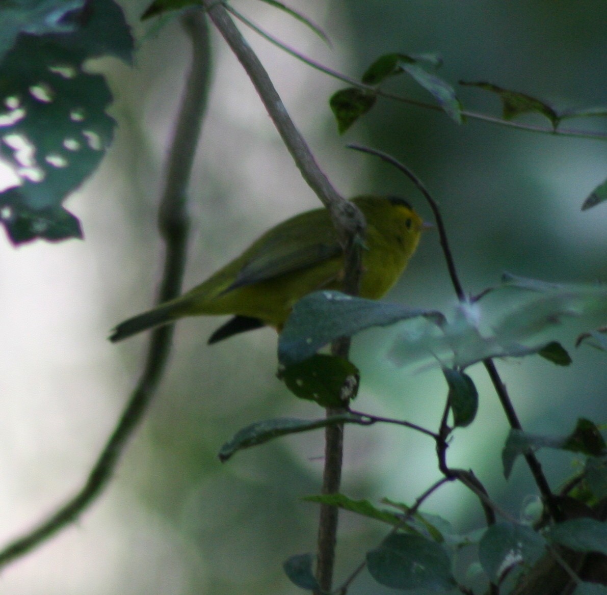
[(395, 589), (449, 591), (455, 587), (443, 546), (419, 535), (388, 536), (367, 553), (367, 568), (378, 583)]

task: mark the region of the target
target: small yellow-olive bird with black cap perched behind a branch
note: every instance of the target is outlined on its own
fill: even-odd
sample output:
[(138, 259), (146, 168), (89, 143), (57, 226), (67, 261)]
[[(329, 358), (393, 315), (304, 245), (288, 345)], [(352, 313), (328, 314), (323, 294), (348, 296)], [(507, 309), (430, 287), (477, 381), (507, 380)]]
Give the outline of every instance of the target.
[[(365, 216), (359, 295), (381, 298), (404, 271), (427, 226), (400, 197), (361, 195), (351, 201)], [(280, 332), (297, 300), (320, 289), (341, 289), (344, 255), (325, 208), (299, 213), (262, 234), (239, 257), (177, 298), (118, 324), (116, 342), (179, 318), (232, 315), (209, 345), (271, 326)]]

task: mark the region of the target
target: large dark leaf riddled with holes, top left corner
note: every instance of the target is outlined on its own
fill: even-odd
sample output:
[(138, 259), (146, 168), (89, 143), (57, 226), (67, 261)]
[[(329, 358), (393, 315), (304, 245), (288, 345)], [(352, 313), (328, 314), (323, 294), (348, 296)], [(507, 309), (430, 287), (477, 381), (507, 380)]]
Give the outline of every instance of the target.
[(0, 222), (14, 243), (81, 237), (80, 223), (62, 203), (97, 168), (115, 126), (106, 113), (112, 101), (107, 82), (86, 72), (84, 63), (103, 55), (130, 61), (132, 49), (120, 7), (91, 0), (75, 13), (69, 31), (21, 32), (4, 54), (0, 156), (19, 185), (0, 193)]

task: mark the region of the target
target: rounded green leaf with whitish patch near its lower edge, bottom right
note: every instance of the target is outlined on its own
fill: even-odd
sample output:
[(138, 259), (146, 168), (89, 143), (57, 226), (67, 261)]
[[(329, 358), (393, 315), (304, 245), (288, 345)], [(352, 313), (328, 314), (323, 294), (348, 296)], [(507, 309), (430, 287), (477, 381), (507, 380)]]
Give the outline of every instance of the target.
[(491, 525), (478, 544), (478, 559), (492, 582), (519, 564), (534, 565), (546, 542), (531, 527), (502, 522)]

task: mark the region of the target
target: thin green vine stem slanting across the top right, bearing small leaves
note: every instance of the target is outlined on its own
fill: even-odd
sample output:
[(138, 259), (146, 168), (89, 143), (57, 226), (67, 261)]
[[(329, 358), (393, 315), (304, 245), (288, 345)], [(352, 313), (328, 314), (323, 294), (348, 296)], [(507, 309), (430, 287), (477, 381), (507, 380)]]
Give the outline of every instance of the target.
[[(319, 72), (324, 73), (325, 75), (329, 75), (339, 81), (345, 82), (348, 85), (356, 87), (357, 89), (362, 89), (364, 91), (368, 91), (370, 93), (375, 93), (380, 97), (384, 97), (386, 99), (393, 99), (394, 101), (399, 101), (400, 103), (405, 103), (409, 106), (421, 107), (423, 109), (432, 110), (433, 112), (441, 112), (444, 113), (444, 109), (441, 106), (437, 106), (436, 104), (426, 103), (425, 101), (417, 101), (416, 99), (409, 99), (407, 97), (403, 97), (401, 95), (396, 95), (395, 93), (388, 93), (386, 91), (382, 91), (377, 87), (372, 87), (370, 85), (365, 85), (364, 82), (358, 81), (351, 76), (344, 75), (338, 70), (334, 70), (313, 60), (312, 58), (308, 58), (308, 56), (304, 56), (304, 54), (298, 52), (296, 49), (291, 47), (288, 44), (280, 41), (280, 39), (271, 35), (271, 33), (263, 30), (259, 25), (256, 25), (253, 21), (248, 19), (242, 13), (238, 12), (236, 8), (233, 8), (230, 5), (226, 5), (226, 8), (229, 12), (232, 13), (239, 21), (242, 21), (249, 29), (252, 29), (259, 36), (269, 41), (271, 44), (279, 47), (283, 52), (288, 53), (289, 55), (297, 58), (299, 61), (304, 62), (308, 66), (311, 66), (313, 69), (318, 70)], [(483, 113), (477, 112), (469, 112), (467, 110), (462, 110), (461, 115), (466, 118), (480, 120), (481, 122), (487, 122), (489, 124), (496, 124), (497, 126), (503, 126), (506, 128), (512, 128), (515, 130), (524, 130), (525, 132), (537, 132), (540, 134), (548, 134), (551, 136), (569, 136), (571, 138), (589, 138), (591, 140), (607, 140), (607, 135), (603, 132), (593, 132), (591, 130), (562, 130), (562, 129), (554, 129), (548, 128), (546, 126), (534, 126), (532, 124), (521, 124), (520, 122), (513, 122), (512, 120), (504, 120), (503, 118), (495, 118), (494, 116), (487, 116)]]

